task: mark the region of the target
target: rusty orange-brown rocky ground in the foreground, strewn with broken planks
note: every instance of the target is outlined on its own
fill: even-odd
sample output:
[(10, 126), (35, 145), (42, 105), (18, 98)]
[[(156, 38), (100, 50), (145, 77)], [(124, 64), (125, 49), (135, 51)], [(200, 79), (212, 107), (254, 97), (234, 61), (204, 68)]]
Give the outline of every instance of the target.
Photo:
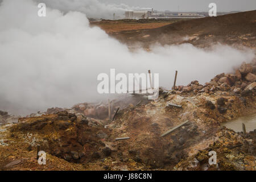
[[(205, 84), (192, 81), (160, 89), (155, 101), (133, 95), (113, 100), (110, 118), (104, 102), (19, 118), (18, 123), (0, 127), (0, 168), (255, 170), (256, 130), (243, 134), (220, 126), (255, 113), (255, 74), (254, 60)], [(6, 115), (1, 111), (1, 117)], [(46, 165), (36, 160), (38, 145), (47, 153)], [(217, 165), (210, 166), (212, 150), (217, 152)]]

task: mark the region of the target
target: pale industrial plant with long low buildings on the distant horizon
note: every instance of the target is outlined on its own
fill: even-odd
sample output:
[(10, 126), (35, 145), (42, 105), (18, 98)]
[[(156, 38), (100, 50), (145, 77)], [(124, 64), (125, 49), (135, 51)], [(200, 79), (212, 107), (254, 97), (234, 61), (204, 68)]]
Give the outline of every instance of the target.
[(148, 10), (130, 10), (125, 11), (125, 19), (144, 19), (144, 18), (203, 18), (205, 15), (191, 12), (171, 12), (171, 11), (151, 11)]

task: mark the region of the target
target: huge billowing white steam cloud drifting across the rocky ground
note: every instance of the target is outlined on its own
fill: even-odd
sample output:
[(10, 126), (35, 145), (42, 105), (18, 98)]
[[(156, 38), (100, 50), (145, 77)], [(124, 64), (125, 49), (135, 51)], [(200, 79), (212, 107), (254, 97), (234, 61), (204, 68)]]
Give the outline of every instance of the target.
[(189, 44), (131, 53), (100, 28), (89, 27), (84, 14), (48, 8), (40, 18), (31, 0), (3, 1), (0, 24), (0, 110), (12, 113), (102, 98), (97, 75), (110, 68), (117, 73), (151, 69), (159, 73), (160, 86), (171, 88), (175, 70), (177, 85), (206, 82), (254, 56), (227, 46), (204, 51)]

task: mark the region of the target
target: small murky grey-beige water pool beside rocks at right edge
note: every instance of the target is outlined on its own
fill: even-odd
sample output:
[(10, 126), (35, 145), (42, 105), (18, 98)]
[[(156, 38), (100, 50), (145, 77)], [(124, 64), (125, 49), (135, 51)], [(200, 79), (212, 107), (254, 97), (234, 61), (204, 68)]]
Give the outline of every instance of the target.
[(221, 126), (225, 126), (236, 132), (242, 131), (242, 123), (245, 123), (246, 132), (253, 131), (256, 129), (256, 113), (246, 115), (245, 117), (240, 117), (233, 119), (232, 121), (224, 122)]

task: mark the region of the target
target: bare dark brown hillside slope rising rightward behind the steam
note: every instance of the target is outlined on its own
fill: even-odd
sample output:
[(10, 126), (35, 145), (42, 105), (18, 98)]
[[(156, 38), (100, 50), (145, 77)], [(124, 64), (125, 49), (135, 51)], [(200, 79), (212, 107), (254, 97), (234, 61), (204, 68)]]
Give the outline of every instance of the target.
[(123, 43), (133, 45), (191, 43), (207, 47), (213, 43), (255, 48), (256, 10), (217, 17), (182, 20), (150, 30), (122, 31), (112, 34)]

